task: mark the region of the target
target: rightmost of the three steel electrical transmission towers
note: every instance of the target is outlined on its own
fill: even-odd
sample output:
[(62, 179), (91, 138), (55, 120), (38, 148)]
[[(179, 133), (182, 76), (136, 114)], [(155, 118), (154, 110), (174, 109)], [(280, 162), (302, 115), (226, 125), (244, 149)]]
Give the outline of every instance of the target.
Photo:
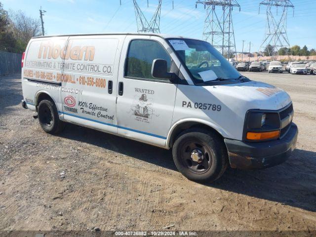
[[(274, 56), (276, 51), (280, 48), (290, 47), (286, 33), (287, 9), (291, 7), (294, 14), (294, 5), (290, 0), (264, 0), (259, 4), (259, 13), (261, 5), (267, 6), (267, 27), (265, 39), (263, 40), (260, 49), (265, 49), (266, 46), (271, 45), (273, 48), (272, 52), (271, 47), (267, 47), (267, 49), (269, 55)], [(278, 11), (280, 11), (281, 14), (278, 14)]]

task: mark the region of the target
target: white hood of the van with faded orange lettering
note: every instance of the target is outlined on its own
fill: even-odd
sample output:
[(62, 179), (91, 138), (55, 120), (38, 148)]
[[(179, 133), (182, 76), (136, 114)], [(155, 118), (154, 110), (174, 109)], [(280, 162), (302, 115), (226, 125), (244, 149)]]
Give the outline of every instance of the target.
[(246, 112), (251, 109), (280, 110), (291, 103), (290, 96), (273, 85), (249, 81), (238, 84), (205, 86), (229, 108)]

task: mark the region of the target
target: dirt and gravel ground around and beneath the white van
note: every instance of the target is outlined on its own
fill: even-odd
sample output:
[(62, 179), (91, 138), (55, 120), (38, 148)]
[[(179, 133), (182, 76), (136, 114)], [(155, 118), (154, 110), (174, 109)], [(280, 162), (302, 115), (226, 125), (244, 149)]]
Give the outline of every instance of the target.
[(0, 230), (316, 230), (316, 76), (244, 75), (290, 94), (297, 147), (208, 185), (170, 151), (71, 124), (46, 134), (21, 107), (20, 75), (0, 78)]

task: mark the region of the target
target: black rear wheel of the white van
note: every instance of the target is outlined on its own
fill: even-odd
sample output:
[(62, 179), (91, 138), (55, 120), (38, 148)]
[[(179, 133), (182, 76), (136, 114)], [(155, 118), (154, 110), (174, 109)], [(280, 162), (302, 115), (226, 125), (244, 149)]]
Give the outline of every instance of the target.
[(59, 119), (55, 103), (50, 100), (40, 101), (38, 115), (41, 128), (49, 134), (60, 133), (65, 127), (65, 123)]

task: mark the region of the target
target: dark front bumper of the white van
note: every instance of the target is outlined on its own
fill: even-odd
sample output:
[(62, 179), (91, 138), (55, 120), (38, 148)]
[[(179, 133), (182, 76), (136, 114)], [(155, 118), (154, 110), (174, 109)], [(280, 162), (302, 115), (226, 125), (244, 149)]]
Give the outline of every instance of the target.
[(268, 142), (242, 142), (225, 138), (232, 168), (262, 169), (283, 163), (295, 149), (298, 128), (291, 124), (281, 139)]

